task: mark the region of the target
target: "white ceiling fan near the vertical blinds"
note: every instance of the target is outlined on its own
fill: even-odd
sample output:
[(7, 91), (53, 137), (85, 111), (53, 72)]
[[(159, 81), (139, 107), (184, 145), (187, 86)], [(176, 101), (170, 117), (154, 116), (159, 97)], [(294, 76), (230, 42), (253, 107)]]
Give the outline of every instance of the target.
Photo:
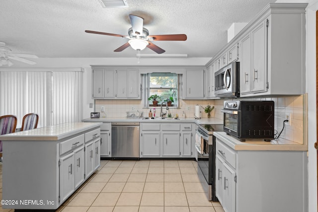
[(7, 48), (5, 46), (4, 42), (0, 42), (0, 66), (7, 65), (7, 66), (12, 66), (13, 63), (9, 60), (16, 60), (22, 63), (34, 65), (36, 62), (26, 60), (24, 58), (38, 58), (35, 55), (30, 55), (30, 54), (20, 54), (20, 53), (13, 53), (11, 52), (11, 49)]

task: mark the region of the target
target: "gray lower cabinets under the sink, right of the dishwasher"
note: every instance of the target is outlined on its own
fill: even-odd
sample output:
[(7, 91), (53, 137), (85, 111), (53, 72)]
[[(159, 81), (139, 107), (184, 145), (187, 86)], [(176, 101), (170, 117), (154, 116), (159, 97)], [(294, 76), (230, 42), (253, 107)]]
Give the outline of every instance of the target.
[(141, 123), (140, 157), (194, 157), (191, 123)]

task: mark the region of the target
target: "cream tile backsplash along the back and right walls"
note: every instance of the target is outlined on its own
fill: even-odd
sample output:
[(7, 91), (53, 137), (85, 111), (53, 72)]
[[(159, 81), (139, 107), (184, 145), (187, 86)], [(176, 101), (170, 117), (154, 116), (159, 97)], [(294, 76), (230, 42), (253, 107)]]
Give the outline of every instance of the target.
[[(242, 100), (272, 100), (275, 103), (275, 130), (277, 134), (283, 129), (283, 121), (286, 116), (291, 115), (291, 125), (285, 124), (284, 131), (280, 138), (298, 143), (304, 142), (304, 113), (307, 110), (307, 99), (305, 95), (298, 96), (280, 96), (280, 97), (264, 97), (264, 98), (243, 98)], [(180, 100), (180, 108), (170, 108), (167, 111), (172, 116), (178, 114), (179, 117), (185, 113), (186, 117), (194, 117), (195, 106), (200, 105), (201, 117), (207, 118), (204, 107), (207, 105), (214, 106), (211, 117), (223, 119), (224, 99), (216, 100)], [(105, 112), (101, 112), (101, 107), (105, 108)], [(148, 116), (149, 110), (153, 108), (143, 108), (142, 100), (95, 100), (95, 112), (100, 112), (100, 117), (104, 118), (125, 118), (126, 111), (143, 111), (144, 116)], [(160, 107), (156, 108), (159, 114)], [(276, 132), (275, 132), (276, 133)]]

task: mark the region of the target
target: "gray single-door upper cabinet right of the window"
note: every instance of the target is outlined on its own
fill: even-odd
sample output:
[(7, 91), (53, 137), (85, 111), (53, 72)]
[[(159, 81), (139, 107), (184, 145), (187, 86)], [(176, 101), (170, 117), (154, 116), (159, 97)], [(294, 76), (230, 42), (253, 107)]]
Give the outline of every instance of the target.
[(204, 70), (186, 69), (183, 76), (183, 99), (204, 99)]

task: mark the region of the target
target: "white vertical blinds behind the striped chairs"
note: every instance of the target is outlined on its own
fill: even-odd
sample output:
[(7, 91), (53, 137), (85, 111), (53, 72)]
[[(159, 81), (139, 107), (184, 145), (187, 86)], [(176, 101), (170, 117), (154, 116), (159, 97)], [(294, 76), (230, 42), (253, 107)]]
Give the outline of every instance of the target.
[(79, 71), (0, 71), (0, 116), (15, 115), (17, 127), (27, 113), (39, 114), (38, 127), (80, 121), (80, 74)]

